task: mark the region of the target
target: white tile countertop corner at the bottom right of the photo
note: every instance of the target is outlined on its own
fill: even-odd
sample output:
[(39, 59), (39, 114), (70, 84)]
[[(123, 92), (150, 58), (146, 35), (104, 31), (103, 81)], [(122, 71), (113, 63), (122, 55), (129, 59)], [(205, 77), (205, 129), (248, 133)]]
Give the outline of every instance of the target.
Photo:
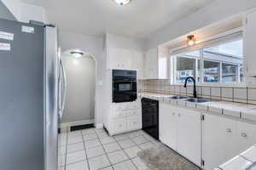
[(239, 156), (215, 168), (214, 170), (255, 170), (256, 169), (256, 145), (244, 151)]

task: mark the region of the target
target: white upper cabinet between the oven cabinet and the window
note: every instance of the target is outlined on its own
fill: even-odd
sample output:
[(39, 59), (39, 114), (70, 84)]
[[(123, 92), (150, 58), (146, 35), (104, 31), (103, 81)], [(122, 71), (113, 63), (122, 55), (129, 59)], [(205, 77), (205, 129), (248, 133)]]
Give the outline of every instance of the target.
[(144, 56), (144, 78), (145, 79), (167, 79), (168, 78), (168, 48), (150, 48)]

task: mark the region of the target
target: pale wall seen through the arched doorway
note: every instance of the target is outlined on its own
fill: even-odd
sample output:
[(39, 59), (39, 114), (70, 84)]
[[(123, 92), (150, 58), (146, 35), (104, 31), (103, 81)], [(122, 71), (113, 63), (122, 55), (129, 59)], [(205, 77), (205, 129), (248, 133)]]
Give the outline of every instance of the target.
[(88, 56), (61, 56), (67, 75), (67, 100), (61, 122), (94, 122), (96, 62)]

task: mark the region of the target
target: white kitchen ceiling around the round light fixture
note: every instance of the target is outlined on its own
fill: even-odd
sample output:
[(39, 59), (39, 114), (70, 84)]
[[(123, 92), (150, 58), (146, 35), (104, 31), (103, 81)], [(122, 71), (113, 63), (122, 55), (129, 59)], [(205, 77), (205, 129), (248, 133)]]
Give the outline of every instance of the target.
[(105, 32), (147, 37), (214, 0), (132, 0), (120, 7), (113, 0), (22, 0), (46, 8), (61, 31), (102, 36)]

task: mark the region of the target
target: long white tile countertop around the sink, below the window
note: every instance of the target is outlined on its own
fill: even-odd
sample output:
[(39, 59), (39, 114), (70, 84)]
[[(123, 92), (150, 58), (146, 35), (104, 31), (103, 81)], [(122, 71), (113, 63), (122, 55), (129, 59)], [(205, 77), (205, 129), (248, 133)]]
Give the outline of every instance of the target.
[(176, 96), (171, 94), (154, 94), (154, 93), (139, 93), (138, 97), (157, 99), (160, 101), (170, 102), (173, 105), (181, 105), (202, 111), (210, 111), (218, 115), (232, 116), (249, 122), (256, 122), (256, 105), (247, 105), (235, 102), (214, 101), (206, 103), (194, 103), (184, 101), (184, 99), (170, 99)]

